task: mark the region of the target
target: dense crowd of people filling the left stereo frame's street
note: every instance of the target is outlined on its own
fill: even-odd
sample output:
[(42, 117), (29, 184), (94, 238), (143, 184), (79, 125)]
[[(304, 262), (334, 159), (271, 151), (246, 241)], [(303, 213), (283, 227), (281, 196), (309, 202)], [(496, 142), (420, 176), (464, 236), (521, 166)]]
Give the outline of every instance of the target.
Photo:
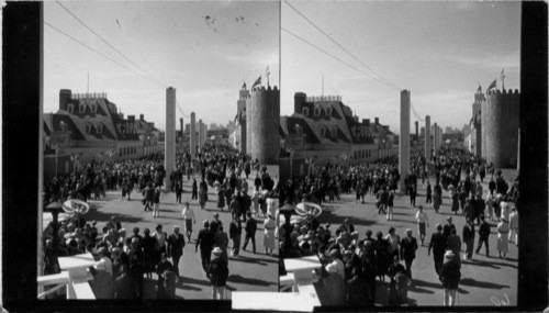
[[(121, 191), (122, 200), (132, 201), (132, 191), (137, 191), (142, 195), (143, 210), (159, 217), (160, 188), (166, 178), (163, 164), (161, 153), (112, 164), (81, 163), (72, 174), (52, 178), (45, 185), (45, 199), (47, 203), (68, 199), (89, 201), (104, 198), (107, 191)], [(169, 299), (173, 298), (177, 283), (182, 283), (179, 264), (183, 247), (193, 244), (197, 254), (200, 249), (202, 269), (212, 286), (212, 298), (223, 299), (228, 278), (228, 254), (239, 257), (240, 247), (246, 250), (249, 242), (250, 253), (257, 253), (258, 223), (264, 224), (265, 253), (272, 255), (276, 249), (274, 211), (278, 203), (274, 180), (266, 166), (226, 146), (206, 144), (193, 160), (188, 153), (178, 154), (176, 164), (169, 179), (176, 201), (182, 204), (181, 226), (176, 224), (171, 230), (165, 230), (166, 224), (159, 223), (153, 232), (149, 228), (142, 232), (128, 223), (124, 225), (132, 227), (128, 234), (114, 215), (100, 227), (96, 221), (72, 214), (56, 225), (57, 234), (53, 232), (53, 222), (44, 232), (44, 275), (60, 272), (60, 256), (89, 253), (97, 261), (90, 268), (93, 275), (90, 284), (97, 299), (143, 299), (144, 279), (154, 279), (153, 273), (157, 280), (156, 298)], [(253, 170), (256, 178), (254, 186), (248, 187), (247, 178)], [(195, 176), (200, 183), (197, 183)], [(184, 179), (191, 186), (188, 191), (182, 188)], [(192, 193), (191, 199), (197, 200), (202, 210), (210, 210), (212, 208), (205, 208), (213, 202), (208, 202), (209, 189), (210, 194), (213, 189), (214, 197), (217, 195), (214, 203), (220, 212), (226, 210), (231, 213), (231, 223), (224, 227), (220, 214), (215, 213), (211, 221), (202, 222), (203, 227), (193, 237), (197, 215), (188, 201), (182, 203), (181, 195)], [(244, 245), (240, 243), (243, 233)]]

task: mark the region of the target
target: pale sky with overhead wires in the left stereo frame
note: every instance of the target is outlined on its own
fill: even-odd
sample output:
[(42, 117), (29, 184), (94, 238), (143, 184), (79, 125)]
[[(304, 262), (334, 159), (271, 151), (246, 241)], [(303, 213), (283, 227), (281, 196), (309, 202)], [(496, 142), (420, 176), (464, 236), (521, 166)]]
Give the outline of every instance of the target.
[(130, 69), (46, 25), (45, 113), (57, 112), (60, 89), (86, 92), (88, 72), (90, 92), (107, 92), (125, 115), (145, 114), (160, 128), (168, 87), (176, 88), (184, 115), (195, 112), (197, 121), (226, 125), (236, 115), (243, 81), (249, 88), (264, 76), (266, 85), (269, 67), (270, 85), (279, 86), (280, 2), (60, 3), (125, 57), (56, 2), (44, 4), (46, 23)]

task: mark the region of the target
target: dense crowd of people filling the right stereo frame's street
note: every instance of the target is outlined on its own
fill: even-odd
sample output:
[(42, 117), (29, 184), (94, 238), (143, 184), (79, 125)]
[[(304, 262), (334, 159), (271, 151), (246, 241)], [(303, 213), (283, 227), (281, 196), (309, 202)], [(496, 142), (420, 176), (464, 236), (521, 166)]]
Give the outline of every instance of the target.
[[(418, 150), (412, 156), (411, 174), (404, 178), (404, 193), (410, 197), (410, 208), (416, 208), (417, 183), (422, 180), (422, 183), (427, 183), (425, 205), (429, 205), (416, 208), (414, 217), (417, 238), (412, 228), (396, 234), (392, 226), (388, 230), (369, 228), (363, 234), (366, 237), (361, 237), (362, 234), (355, 231), (348, 219), (341, 225), (330, 225), (323, 223), (322, 215), (305, 216), (288, 230), (281, 225), (281, 256), (318, 256), (323, 267), (317, 275), (326, 290), (326, 304), (372, 306), (376, 303), (376, 289), (385, 277), (390, 279), (388, 304), (406, 303), (406, 290), (413, 286), (413, 277), (417, 276), (412, 275), (412, 264), (416, 250), (426, 244), (430, 226), (425, 209), (432, 205), (435, 213), (439, 213), (442, 192), (451, 199), (455, 219), (466, 222), (463, 228), (458, 231), (452, 217), (448, 216), (445, 225), (434, 225), (426, 246), (429, 255), (433, 251), (434, 268), (444, 289), (444, 305), (456, 303), (461, 258), (467, 260), (473, 257), (475, 234), (479, 238), (475, 253), (479, 254), (484, 245), (485, 254), (490, 257), (489, 222), (497, 222), (498, 257), (506, 258), (508, 241), (518, 243), (518, 178), (507, 183), (502, 171), (494, 169), (493, 165), (486, 165), (485, 160), (455, 147), (444, 146), (430, 159), (425, 159)], [(328, 163), (315, 167), (310, 176), (294, 176), (285, 181), (281, 187), (281, 201), (322, 204), (339, 199), (343, 193), (352, 192), (356, 203), (361, 204), (370, 193), (376, 197), (378, 214), (386, 215), (386, 221), (392, 221), (394, 191), (400, 180), (396, 167), (395, 157), (348, 167)], [(486, 172), (490, 182), (489, 190), (484, 192), (482, 182)], [(280, 270), (281, 275), (285, 272), (282, 261)]]

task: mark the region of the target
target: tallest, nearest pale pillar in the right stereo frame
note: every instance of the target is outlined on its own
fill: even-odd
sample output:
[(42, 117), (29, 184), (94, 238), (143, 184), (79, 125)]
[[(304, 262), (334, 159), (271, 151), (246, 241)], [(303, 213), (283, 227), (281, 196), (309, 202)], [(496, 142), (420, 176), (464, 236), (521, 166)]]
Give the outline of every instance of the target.
[(410, 91), (401, 91), (401, 137), (399, 139), (400, 191), (404, 193), (404, 178), (410, 174)]

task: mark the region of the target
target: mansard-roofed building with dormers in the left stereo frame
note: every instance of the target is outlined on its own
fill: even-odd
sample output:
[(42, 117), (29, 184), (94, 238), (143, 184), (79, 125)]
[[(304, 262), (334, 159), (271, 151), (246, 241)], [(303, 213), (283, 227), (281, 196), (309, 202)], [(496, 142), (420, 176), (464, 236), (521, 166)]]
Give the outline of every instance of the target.
[[(44, 114), (44, 143), (45, 156), (57, 152), (80, 161), (138, 158), (161, 149), (160, 132), (143, 114), (124, 119), (105, 93), (68, 89), (59, 91), (59, 110)], [(66, 168), (58, 172), (71, 170)]]

